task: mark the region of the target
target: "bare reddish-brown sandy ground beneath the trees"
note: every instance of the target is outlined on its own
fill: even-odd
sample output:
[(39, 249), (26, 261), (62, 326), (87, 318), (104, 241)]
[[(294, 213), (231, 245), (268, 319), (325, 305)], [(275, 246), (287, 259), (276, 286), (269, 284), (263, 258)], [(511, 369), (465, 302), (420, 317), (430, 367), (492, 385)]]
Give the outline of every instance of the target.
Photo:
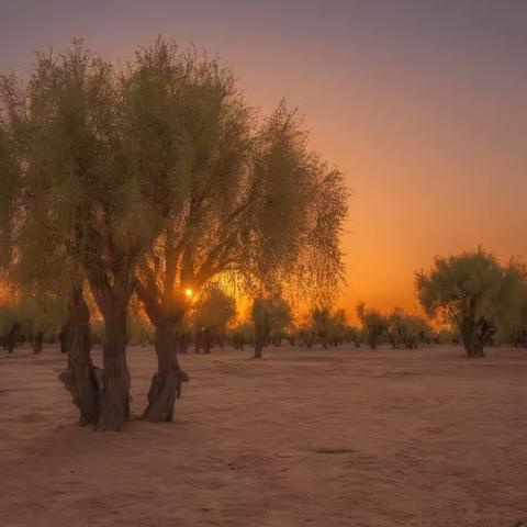
[(2, 527), (527, 525), (525, 350), (188, 355), (176, 423), (117, 434), (76, 425), (56, 349), (0, 354)]

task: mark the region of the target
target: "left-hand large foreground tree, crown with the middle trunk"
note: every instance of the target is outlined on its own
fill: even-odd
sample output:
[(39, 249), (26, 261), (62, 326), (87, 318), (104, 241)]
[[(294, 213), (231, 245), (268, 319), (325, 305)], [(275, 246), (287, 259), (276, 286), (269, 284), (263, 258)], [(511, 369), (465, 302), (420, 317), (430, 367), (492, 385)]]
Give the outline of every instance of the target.
[[(15, 229), (36, 257), (53, 251), (78, 269), (104, 318), (97, 421), (108, 429), (128, 417), (126, 309), (137, 260), (160, 228), (164, 192), (155, 162), (136, 150), (131, 75), (76, 42), (58, 56), (37, 55), (29, 81), (4, 77), (0, 92), (18, 170)], [(74, 291), (81, 280), (70, 285), (82, 302)]]

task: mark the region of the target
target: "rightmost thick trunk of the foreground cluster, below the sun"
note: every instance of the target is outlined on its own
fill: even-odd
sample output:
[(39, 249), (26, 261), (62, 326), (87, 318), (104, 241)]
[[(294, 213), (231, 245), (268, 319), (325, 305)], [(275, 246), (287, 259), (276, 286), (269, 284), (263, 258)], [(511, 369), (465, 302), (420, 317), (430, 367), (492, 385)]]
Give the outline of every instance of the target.
[(143, 419), (152, 423), (173, 421), (173, 405), (181, 396), (182, 383), (189, 381), (179, 366), (177, 354), (179, 338), (184, 338), (184, 335), (177, 336), (170, 319), (156, 322), (157, 372), (152, 378), (148, 406), (143, 414)]

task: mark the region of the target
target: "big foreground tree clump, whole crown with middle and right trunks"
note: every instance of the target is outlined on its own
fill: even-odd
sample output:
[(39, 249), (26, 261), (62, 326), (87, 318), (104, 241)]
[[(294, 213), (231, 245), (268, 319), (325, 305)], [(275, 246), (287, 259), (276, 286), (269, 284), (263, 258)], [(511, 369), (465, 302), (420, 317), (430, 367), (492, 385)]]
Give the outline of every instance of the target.
[(104, 321), (100, 428), (130, 414), (134, 291), (158, 357), (144, 416), (170, 421), (184, 377), (175, 341), (206, 283), (338, 289), (341, 172), (311, 152), (285, 103), (258, 121), (217, 60), (158, 40), (117, 70), (77, 41), (0, 88), (0, 170), (13, 175), (1, 221), (71, 267), (68, 298), (82, 302), (74, 293), (89, 285)]

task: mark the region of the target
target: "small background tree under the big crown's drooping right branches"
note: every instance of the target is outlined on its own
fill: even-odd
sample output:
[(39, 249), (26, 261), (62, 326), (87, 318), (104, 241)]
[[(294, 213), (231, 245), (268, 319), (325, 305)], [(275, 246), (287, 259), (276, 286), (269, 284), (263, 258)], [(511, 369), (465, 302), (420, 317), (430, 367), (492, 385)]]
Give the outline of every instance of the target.
[(255, 324), (255, 359), (261, 359), (272, 334), (283, 333), (292, 322), (290, 305), (279, 294), (259, 296), (253, 303), (251, 319)]

